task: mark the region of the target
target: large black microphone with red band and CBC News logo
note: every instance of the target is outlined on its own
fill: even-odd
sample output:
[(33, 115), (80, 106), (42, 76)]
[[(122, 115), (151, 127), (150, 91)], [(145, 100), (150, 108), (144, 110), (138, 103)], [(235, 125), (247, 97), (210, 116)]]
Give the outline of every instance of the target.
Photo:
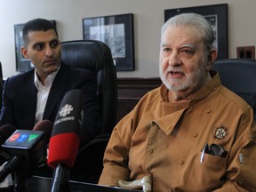
[(82, 91), (65, 94), (52, 129), (49, 143), (48, 165), (54, 168), (52, 192), (67, 189), (69, 172), (75, 164), (82, 127)]

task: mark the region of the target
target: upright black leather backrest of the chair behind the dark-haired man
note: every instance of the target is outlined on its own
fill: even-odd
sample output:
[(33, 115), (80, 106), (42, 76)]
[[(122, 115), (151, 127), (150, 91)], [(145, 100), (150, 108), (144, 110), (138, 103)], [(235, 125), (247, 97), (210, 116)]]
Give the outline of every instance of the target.
[(94, 40), (61, 43), (63, 62), (74, 68), (92, 70), (97, 79), (100, 103), (100, 134), (111, 133), (116, 124), (116, 68), (107, 44)]

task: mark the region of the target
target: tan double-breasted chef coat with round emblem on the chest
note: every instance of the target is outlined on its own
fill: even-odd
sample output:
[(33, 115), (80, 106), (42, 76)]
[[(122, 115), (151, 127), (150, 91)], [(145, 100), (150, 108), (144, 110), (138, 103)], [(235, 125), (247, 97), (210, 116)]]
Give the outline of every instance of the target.
[[(152, 176), (153, 191), (256, 191), (256, 128), (252, 108), (212, 80), (194, 98), (170, 103), (161, 85), (115, 127), (99, 184)], [(228, 156), (204, 154), (217, 144)]]

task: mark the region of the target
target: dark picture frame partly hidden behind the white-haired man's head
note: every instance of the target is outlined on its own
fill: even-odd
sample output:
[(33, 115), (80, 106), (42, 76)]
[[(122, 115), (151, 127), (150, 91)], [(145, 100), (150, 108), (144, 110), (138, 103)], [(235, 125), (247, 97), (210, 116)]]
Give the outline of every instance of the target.
[(164, 21), (185, 12), (195, 12), (209, 20), (216, 38), (213, 44), (218, 50), (217, 60), (228, 59), (228, 4), (212, 4), (164, 10)]

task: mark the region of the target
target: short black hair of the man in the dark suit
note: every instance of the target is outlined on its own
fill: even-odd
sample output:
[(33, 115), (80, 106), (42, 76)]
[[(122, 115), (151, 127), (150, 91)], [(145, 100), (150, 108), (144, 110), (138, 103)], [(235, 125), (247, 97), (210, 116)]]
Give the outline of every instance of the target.
[(47, 31), (53, 29), (56, 33), (56, 36), (58, 36), (55, 22), (52, 20), (44, 20), (41, 18), (37, 18), (34, 20), (28, 20), (27, 23), (25, 23), (23, 30), (22, 30), (22, 38), (25, 45), (28, 44), (28, 33), (32, 31)]

